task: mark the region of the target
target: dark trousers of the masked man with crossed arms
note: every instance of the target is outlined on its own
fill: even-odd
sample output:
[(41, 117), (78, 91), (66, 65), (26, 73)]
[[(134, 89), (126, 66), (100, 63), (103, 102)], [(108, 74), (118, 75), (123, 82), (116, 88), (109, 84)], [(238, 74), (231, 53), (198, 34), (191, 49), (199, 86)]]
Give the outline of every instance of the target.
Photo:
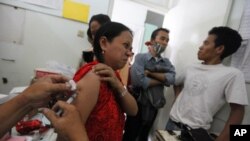
[(153, 119), (145, 121), (142, 119), (142, 105), (138, 103), (138, 113), (136, 116), (127, 116), (125, 123), (125, 133), (123, 135), (123, 141), (147, 141), (149, 132), (153, 126), (158, 110), (155, 109)]

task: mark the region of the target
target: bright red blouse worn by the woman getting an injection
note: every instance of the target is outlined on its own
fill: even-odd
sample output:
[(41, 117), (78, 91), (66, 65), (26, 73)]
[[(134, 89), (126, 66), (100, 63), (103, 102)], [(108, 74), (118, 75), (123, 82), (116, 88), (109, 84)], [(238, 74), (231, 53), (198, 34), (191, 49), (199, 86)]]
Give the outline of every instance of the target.
[[(96, 64), (97, 61), (84, 65), (73, 79), (79, 81)], [(119, 74), (116, 75), (120, 79)], [(108, 83), (101, 82), (97, 103), (85, 124), (89, 140), (121, 141), (124, 124), (125, 115), (116, 101), (115, 92)]]

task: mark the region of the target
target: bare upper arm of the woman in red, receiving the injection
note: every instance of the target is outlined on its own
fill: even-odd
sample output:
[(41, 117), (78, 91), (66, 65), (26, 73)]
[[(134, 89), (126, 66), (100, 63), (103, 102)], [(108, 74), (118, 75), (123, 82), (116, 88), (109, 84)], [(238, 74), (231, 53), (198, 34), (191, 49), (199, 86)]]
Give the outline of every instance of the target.
[(96, 105), (99, 96), (100, 80), (92, 71), (88, 72), (77, 82), (77, 96), (73, 104), (80, 112), (82, 122), (85, 124), (89, 114)]

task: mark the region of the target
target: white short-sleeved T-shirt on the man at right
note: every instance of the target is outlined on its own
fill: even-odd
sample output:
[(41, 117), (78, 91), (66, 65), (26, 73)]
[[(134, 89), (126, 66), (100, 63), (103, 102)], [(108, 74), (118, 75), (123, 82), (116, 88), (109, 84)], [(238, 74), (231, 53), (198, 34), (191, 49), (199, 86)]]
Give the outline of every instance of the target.
[(184, 82), (170, 118), (191, 128), (209, 129), (214, 114), (226, 103), (248, 105), (244, 75), (222, 64), (196, 64), (186, 69), (176, 83)]

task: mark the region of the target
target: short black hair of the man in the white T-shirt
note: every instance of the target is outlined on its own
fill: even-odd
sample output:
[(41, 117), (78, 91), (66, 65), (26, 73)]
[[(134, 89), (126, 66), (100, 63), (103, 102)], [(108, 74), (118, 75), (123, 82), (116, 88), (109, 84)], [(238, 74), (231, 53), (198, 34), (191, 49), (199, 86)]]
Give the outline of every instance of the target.
[(229, 27), (214, 27), (208, 32), (208, 34), (216, 36), (214, 41), (215, 47), (224, 45), (224, 51), (220, 56), (221, 60), (236, 52), (242, 42), (240, 34), (236, 30)]

